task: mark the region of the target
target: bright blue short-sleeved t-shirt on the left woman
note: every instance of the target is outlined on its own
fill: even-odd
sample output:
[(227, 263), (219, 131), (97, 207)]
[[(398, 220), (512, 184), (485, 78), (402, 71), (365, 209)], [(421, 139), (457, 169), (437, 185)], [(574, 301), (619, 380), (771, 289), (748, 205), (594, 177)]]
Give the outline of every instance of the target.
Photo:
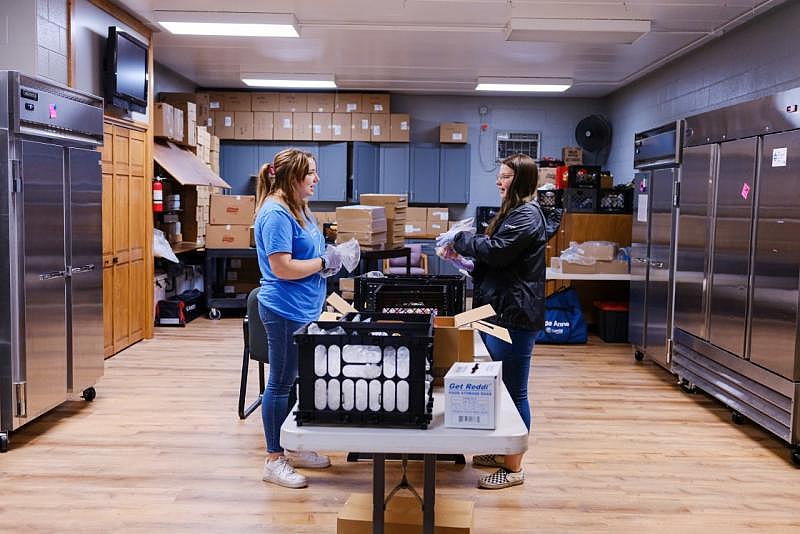
[(268, 259), (276, 252), (288, 252), (296, 260), (320, 257), (325, 251), (325, 239), (314, 216), (306, 220), (303, 228), (288, 208), (268, 199), (256, 216), (255, 238), (262, 275), (258, 301), (291, 321), (316, 321), (325, 301), (325, 280), (319, 273), (299, 280), (280, 279), (273, 274)]

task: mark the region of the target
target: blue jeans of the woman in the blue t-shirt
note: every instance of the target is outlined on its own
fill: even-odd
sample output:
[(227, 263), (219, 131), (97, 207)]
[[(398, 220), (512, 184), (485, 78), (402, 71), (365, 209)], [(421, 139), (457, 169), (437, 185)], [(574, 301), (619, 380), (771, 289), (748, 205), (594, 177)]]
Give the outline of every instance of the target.
[(258, 304), (258, 314), (267, 331), (269, 378), (261, 400), (261, 420), (267, 452), (283, 452), (281, 425), (289, 415), (289, 392), (297, 378), (297, 345), (292, 334), (305, 323), (290, 321)]

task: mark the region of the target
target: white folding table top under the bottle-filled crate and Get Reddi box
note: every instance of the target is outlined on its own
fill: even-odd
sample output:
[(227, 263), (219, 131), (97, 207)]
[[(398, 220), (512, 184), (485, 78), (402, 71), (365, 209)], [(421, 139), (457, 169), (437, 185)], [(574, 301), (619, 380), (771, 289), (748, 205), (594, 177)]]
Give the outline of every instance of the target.
[[(380, 427), (298, 427), (294, 414), (283, 422), (281, 445), (292, 450), (407, 454), (516, 454), (528, 449), (528, 430), (505, 386), (495, 430), (444, 426), (444, 392), (433, 393), (433, 420), (427, 430)], [(295, 407), (296, 409), (296, 407)], [(294, 411), (294, 409), (292, 410)]]

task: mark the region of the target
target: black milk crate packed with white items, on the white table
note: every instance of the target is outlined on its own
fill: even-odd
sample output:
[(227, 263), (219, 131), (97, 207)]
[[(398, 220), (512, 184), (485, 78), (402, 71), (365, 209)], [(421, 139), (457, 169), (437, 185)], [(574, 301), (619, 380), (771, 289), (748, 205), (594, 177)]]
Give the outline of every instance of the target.
[[(310, 334), (311, 325), (344, 333)], [(340, 321), (305, 325), (294, 341), (298, 426), (428, 428), (433, 315), (349, 313)]]

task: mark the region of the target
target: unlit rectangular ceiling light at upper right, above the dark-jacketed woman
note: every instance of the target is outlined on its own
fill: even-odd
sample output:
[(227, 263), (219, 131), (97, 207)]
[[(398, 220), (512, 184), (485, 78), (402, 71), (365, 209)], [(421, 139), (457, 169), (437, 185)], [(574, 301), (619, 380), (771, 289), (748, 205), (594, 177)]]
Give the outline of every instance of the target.
[(649, 32), (649, 20), (512, 18), (506, 41), (631, 44)]

